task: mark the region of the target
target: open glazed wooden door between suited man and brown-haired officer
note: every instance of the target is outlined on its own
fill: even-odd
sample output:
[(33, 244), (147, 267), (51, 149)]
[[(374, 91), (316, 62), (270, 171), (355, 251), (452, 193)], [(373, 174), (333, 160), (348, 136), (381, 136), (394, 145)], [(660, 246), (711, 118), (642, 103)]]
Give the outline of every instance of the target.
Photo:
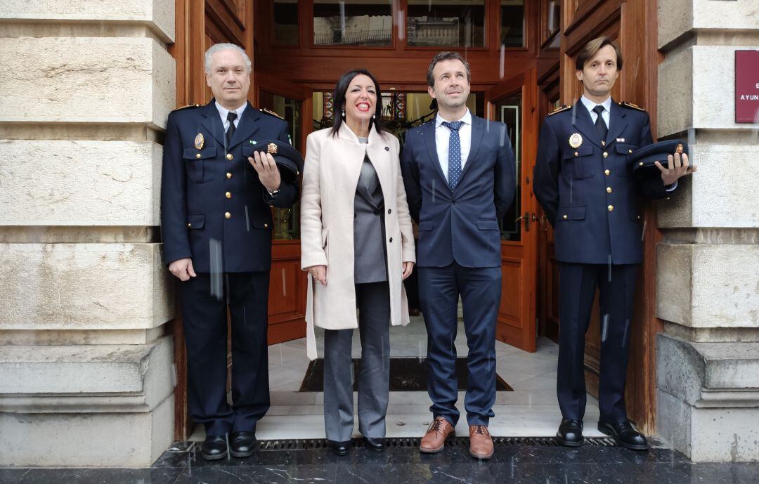
[(537, 201), (532, 168), (537, 153), (537, 71), (531, 68), (485, 93), (487, 118), (508, 128), (516, 159), (516, 194), (501, 221), (502, 294), (496, 338), (535, 350)]

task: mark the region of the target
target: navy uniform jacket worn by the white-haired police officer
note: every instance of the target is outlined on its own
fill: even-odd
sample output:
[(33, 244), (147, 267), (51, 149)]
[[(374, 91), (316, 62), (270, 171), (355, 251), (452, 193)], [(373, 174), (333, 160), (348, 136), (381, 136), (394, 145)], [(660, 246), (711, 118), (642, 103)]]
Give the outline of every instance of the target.
[(247, 160), (263, 140), (288, 143), (288, 125), (250, 103), (226, 147), (214, 99), (168, 115), (161, 188), (166, 263), (191, 257), (196, 272), (270, 269), (270, 206), (291, 206), (298, 187), (283, 182), (269, 196)]

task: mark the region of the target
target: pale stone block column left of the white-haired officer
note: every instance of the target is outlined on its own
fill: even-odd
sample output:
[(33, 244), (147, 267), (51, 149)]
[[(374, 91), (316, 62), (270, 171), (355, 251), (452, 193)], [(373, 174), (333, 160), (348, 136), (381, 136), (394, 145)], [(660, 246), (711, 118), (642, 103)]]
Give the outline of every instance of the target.
[(157, 229), (174, 2), (0, 17), (0, 466), (147, 466), (174, 434)]

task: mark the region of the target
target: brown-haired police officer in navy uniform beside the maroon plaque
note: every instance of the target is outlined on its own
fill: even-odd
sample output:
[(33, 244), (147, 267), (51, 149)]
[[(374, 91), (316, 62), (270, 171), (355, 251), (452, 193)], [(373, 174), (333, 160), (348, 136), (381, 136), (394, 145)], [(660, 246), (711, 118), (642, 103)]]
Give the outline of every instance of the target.
[(688, 174), (688, 157), (669, 156), (661, 176), (635, 178), (630, 156), (653, 142), (643, 109), (613, 102), (622, 70), (619, 46), (606, 37), (578, 53), (576, 75), (584, 93), (573, 106), (549, 115), (540, 131), (534, 193), (556, 234), (559, 261), (559, 370), (557, 394), (564, 445), (583, 441), (584, 338), (596, 288), (602, 315), (598, 428), (619, 445), (647, 442), (625, 412), (625, 374), (632, 303), (642, 261), (643, 224), (638, 196), (661, 198)]

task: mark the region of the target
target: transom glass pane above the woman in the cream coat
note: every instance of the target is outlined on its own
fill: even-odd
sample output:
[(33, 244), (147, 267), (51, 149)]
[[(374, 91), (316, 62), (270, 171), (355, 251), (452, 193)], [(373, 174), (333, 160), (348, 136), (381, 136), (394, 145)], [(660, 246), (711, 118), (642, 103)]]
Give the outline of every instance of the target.
[(391, 0), (314, 0), (314, 46), (389, 46)]

